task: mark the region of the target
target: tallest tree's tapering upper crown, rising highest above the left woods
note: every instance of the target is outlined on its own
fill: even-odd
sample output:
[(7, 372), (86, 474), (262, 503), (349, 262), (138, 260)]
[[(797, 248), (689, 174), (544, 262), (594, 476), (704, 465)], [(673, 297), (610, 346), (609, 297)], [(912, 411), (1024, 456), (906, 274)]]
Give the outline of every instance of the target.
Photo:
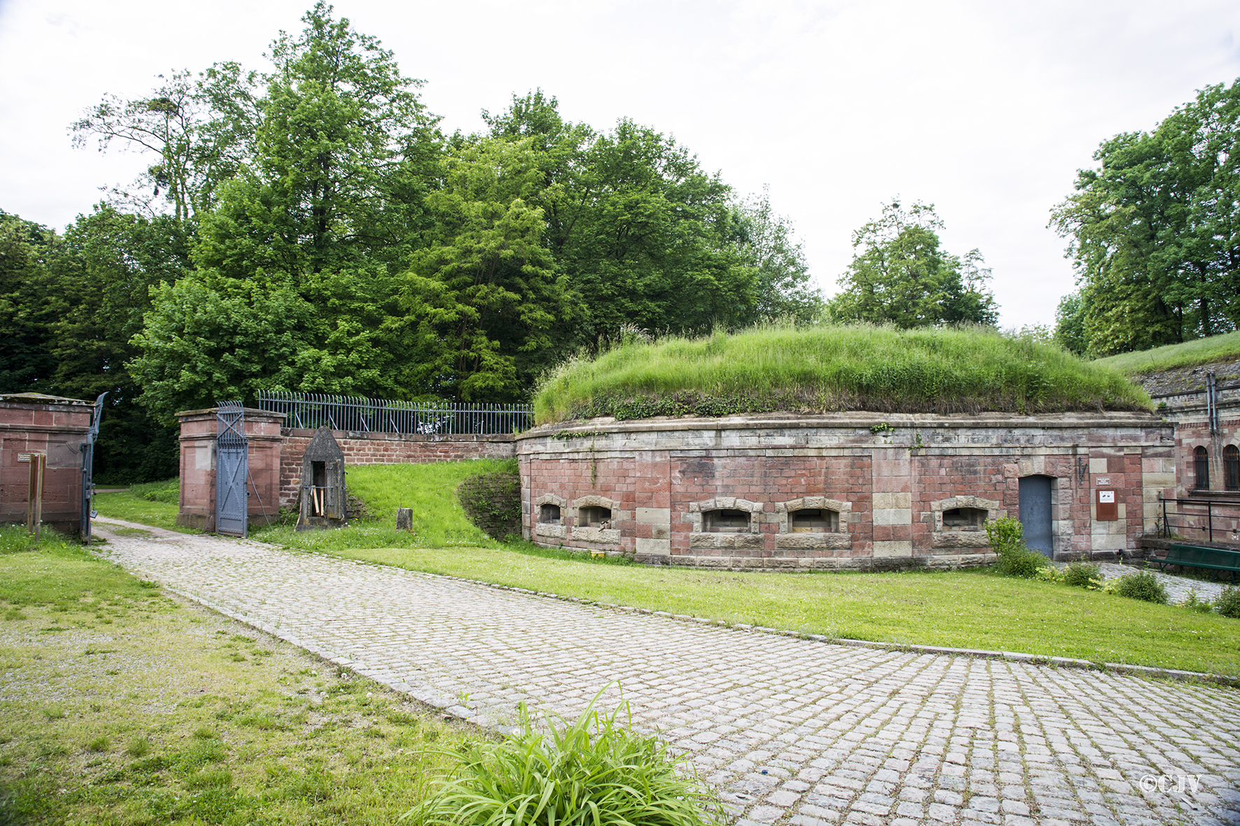
[(439, 136), (392, 52), (322, 2), (272, 46), (253, 161), (202, 222), (195, 260), (231, 278), (401, 264), (429, 216)]

